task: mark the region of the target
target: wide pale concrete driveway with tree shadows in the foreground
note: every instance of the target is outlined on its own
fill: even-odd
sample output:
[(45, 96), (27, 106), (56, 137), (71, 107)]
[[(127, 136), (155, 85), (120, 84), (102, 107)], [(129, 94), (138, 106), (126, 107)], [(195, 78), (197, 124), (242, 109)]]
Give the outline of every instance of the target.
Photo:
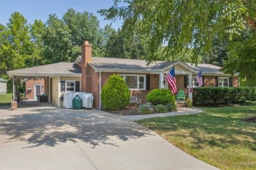
[(99, 110), (0, 110), (0, 169), (216, 169)]

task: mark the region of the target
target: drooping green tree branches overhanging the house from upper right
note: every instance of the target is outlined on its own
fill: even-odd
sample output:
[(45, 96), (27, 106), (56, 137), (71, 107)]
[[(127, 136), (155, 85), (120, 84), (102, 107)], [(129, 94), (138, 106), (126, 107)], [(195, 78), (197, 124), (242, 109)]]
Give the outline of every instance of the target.
[(163, 43), (167, 45), (164, 55), (193, 48), (191, 61), (197, 62), (198, 54), (211, 50), (216, 35), (232, 39), (246, 27), (256, 29), (254, 1), (115, 0), (111, 8), (99, 12), (107, 19), (122, 18), (124, 29), (150, 38), (149, 62), (156, 60), (154, 54)]

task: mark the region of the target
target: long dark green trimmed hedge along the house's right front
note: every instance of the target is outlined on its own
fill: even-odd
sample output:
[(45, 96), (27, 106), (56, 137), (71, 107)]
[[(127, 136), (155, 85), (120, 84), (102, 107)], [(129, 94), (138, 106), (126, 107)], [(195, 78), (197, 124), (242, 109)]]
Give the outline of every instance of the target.
[(198, 87), (193, 89), (193, 104), (237, 104), (256, 101), (256, 87)]

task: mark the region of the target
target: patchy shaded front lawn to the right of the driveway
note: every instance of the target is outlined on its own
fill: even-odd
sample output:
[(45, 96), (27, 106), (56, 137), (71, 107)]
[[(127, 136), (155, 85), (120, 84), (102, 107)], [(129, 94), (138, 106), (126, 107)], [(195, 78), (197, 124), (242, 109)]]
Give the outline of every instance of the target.
[(256, 169), (256, 122), (245, 121), (256, 117), (256, 105), (202, 109), (204, 112), (196, 115), (150, 118), (138, 123), (220, 169), (234, 169), (243, 163)]

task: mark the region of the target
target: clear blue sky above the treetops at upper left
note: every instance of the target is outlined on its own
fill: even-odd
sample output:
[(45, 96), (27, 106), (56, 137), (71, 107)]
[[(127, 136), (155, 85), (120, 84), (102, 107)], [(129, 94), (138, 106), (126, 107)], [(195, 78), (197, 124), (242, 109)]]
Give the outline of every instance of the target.
[[(0, 24), (6, 25), (14, 11), (19, 11), (28, 23), (33, 23), (35, 19), (46, 22), (48, 16), (54, 13), (61, 18), (68, 8), (73, 8), (93, 13), (100, 21), (100, 27), (104, 27), (111, 21), (104, 20), (97, 10), (108, 9), (112, 4), (113, 0), (0, 0)], [(111, 26), (115, 29), (122, 27), (122, 20), (112, 22)]]

